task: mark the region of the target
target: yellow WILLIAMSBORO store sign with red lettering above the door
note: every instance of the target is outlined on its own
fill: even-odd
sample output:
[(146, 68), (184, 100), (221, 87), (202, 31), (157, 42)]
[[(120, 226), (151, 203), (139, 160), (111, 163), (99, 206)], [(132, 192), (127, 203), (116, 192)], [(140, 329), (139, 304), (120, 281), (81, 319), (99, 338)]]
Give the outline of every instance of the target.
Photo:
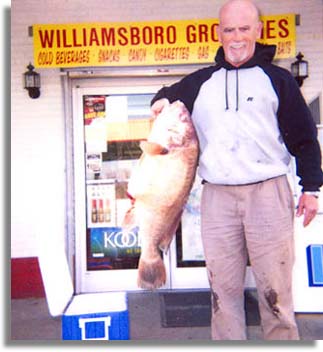
[[(295, 15), (263, 16), (261, 42), (276, 58), (295, 56)], [(217, 19), (36, 24), (36, 67), (138, 66), (210, 63), (219, 47)]]

